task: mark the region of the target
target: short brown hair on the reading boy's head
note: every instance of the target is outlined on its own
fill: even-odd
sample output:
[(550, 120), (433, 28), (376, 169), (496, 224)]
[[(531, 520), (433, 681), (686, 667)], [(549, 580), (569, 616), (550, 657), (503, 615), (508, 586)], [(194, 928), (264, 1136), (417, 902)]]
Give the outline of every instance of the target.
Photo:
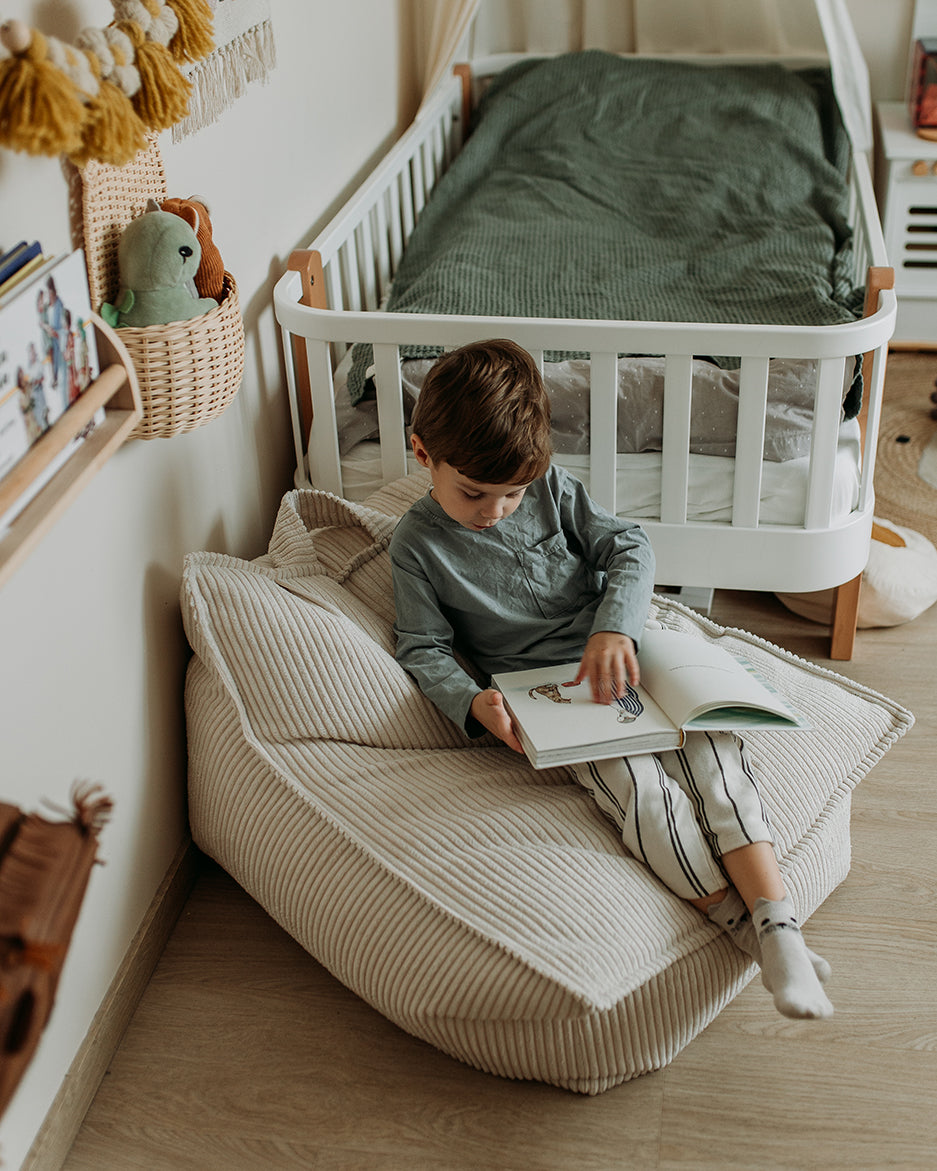
[(502, 338), (444, 354), (419, 391), (412, 429), (435, 464), (479, 484), (528, 484), (549, 467), (549, 398), (531, 355)]

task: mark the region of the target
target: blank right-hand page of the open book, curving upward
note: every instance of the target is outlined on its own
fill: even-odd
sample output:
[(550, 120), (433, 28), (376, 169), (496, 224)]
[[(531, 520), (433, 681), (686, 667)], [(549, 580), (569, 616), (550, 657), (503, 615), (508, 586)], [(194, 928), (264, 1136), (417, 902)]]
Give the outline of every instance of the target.
[(638, 663), (645, 689), (678, 727), (754, 726), (761, 713), (768, 725), (806, 726), (750, 665), (702, 638), (676, 630), (645, 630)]

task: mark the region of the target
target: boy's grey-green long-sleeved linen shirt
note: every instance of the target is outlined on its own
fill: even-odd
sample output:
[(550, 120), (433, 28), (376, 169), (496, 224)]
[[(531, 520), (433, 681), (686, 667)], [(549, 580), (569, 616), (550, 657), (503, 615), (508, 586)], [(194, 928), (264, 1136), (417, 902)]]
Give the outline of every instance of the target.
[(396, 657), (420, 690), (471, 735), (479, 684), (456, 659), (497, 671), (577, 662), (591, 634), (637, 644), (654, 588), (654, 552), (641, 526), (600, 508), (553, 465), (520, 506), (473, 532), (428, 493), (390, 542)]

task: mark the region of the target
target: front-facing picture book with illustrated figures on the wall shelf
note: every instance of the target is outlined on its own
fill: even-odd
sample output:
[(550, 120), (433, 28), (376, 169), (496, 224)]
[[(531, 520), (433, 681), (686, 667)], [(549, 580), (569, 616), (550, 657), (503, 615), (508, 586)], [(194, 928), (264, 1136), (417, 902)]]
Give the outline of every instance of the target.
[(0, 477), (100, 374), (90, 313), (81, 249), (0, 299)]

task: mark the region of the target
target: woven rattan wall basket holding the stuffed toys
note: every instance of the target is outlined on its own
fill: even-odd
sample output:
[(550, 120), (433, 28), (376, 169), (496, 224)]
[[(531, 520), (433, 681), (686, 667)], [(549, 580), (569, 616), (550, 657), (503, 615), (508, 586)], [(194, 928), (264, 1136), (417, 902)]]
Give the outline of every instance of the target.
[[(70, 171), (71, 234), (84, 248), (91, 304), (116, 301), (117, 244), (148, 199), (166, 197), (155, 137), (126, 166), (89, 163)], [(139, 382), (143, 418), (130, 438), (169, 438), (216, 418), (231, 403), (244, 375), (244, 321), (238, 285), (225, 273), (217, 309), (169, 326), (122, 328)]]

